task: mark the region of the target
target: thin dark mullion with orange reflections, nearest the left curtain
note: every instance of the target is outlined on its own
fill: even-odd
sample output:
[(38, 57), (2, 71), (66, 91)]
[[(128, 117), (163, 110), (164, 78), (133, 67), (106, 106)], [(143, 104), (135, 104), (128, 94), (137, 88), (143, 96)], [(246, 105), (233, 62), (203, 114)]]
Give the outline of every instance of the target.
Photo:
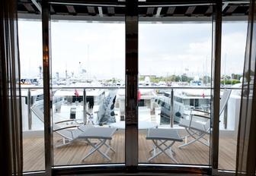
[(52, 175), (53, 150), (52, 129), (50, 120), (50, 2), (42, 2), (42, 35), (43, 35), (43, 118), (44, 118), (44, 147), (46, 175)]

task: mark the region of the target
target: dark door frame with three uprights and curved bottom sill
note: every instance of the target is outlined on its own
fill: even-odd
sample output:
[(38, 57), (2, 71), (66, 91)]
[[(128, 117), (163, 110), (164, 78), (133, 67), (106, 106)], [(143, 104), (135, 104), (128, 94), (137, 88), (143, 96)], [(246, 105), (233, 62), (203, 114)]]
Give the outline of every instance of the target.
[[(72, 165), (72, 166), (53, 166), (53, 129), (51, 121), (51, 43), (50, 43), (50, 0), (42, 1), (42, 28), (43, 28), (43, 93), (44, 93), (44, 137), (45, 137), (45, 166), (46, 174), (79, 173), (88, 171), (92, 173), (98, 171), (187, 171), (188, 173), (207, 173), (212, 169), (213, 173), (218, 171), (219, 158), (219, 82), (220, 82), (220, 61), (221, 61), (221, 25), (222, 25), (222, 0), (213, 1), (213, 102), (212, 102), (212, 126), (211, 126), (211, 150), (210, 165), (141, 165), (139, 158), (138, 143), (138, 24), (139, 10), (138, 1), (126, 1), (125, 13), (125, 40), (126, 40), (126, 131), (125, 131), (125, 164), (110, 165)], [(165, 1), (163, 1), (165, 2)], [(175, 1), (173, 1), (174, 3)], [(190, 2), (184, 0), (182, 2)], [(197, 1), (200, 3), (209, 1)], [(177, 3), (177, 1), (176, 1)], [(131, 45), (133, 47), (131, 47)], [(94, 167), (94, 166), (97, 166)], [(101, 167), (99, 167), (101, 166)], [(91, 172), (90, 172), (91, 171)]]

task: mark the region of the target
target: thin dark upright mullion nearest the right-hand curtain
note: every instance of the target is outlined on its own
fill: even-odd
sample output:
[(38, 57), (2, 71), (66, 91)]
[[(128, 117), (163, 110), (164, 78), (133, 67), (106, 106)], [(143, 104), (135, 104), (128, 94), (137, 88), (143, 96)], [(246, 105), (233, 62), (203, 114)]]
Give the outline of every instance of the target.
[(213, 118), (211, 134), (211, 165), (213, 174), (218, 171), (219, 160), (219, 90), (220, 90), (220, 68), (221, 68), (221, 38), (222, 38), (222, 0), (214, 4), (213, 17), (215, 26), (213, 28)]

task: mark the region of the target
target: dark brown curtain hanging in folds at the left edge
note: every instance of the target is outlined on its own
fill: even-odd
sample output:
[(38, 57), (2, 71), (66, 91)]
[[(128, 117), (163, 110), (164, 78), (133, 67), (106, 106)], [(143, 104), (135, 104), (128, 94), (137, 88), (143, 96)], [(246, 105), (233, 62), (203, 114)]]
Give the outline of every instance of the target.
[(21, 175), (21, 91), (16, 1), (0, 1), (0, 171)]

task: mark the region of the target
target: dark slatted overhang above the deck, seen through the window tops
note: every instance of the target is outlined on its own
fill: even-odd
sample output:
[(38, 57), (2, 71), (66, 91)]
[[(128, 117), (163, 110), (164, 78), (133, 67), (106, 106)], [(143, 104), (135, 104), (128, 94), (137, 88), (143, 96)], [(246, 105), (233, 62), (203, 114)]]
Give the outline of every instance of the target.
[[(39, 5), (39, 0), (36, 1)], [(170, 3), (172, 2), (172, 4)], [(194, 4), (182, 4), (185, 0), (177, 1), (139, 1), (139, 17), (149, 19), (157, 18), (165, 20), (168, 17), (209, 17), (213, 13), (210, 3), (207, 1), (192, 0)], [(195, 4), (195, 2), (200, 2)], [(209, 1), (208, 1), (209, 2)], [(203, 3), (203, 4), (202, 4)], [(248, 2), (246, 1), (223, 1), (223, 15), (225, 17), (245, 17), (248, 14)], [(98, 9), (101, 8), (99, 11)], [(161, 9), (161, 11), (160, 11)], [(160, 13), (159, 13), (160, 11)], [(125, 1), (123, 0), (55, 0), (51, 2), (51, 14), (61, 15), (62, 19), (67, 16), (85, 16), (93, 20), (101, 20), (101, 17), (120, 17), (125, 13)], [(40, 18), (40, 11), (31, 0), (18, 0), (18, 14), (27, 18)], [(32, 17), (34, 15), (34, 17)], [(67, 17), (71, 19), (70, 17)]]

